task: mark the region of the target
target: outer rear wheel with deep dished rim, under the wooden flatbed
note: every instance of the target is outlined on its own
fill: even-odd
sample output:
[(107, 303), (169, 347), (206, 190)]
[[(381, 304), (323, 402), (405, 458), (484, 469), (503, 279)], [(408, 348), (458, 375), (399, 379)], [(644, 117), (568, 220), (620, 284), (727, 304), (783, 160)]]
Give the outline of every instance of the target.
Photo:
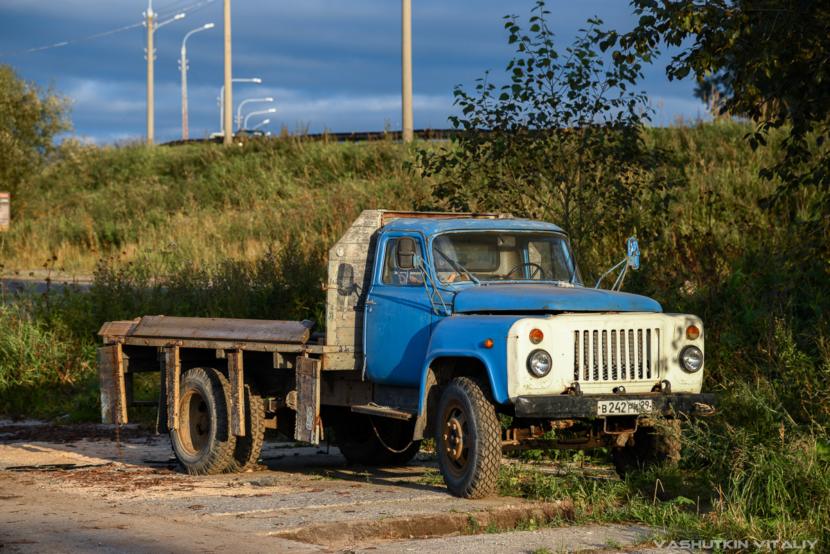
[(212, 367), (196, 367), (184, 373), (180, 391), (178, 430), (170, 431), (173, 453), (188, 474), (221, 474), (237, 445), (229, 425), (231, 386)]

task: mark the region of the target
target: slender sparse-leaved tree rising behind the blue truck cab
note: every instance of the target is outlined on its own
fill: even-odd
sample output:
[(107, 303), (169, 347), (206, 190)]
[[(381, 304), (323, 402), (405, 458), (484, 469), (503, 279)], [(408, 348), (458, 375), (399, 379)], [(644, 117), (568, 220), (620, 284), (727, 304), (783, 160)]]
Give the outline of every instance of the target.
[(532, 14), (530, 36), (505, 17), (517, 45), (510, 85), (498, 91), (487, 75), (474, 95), (457, 86), (452, 147), (421, 150), (408, 167), (436, 178), (432, 192), (449, 209), (553, 221), (584, 262), (586, 245), (627, 227), (642, 195), (665, 186), (650, 177), (662, 153), (642, 141), (647, 99), (629, 90), (647, 56), (603, 60), (597, 19), (560, 56), (544, 2)]

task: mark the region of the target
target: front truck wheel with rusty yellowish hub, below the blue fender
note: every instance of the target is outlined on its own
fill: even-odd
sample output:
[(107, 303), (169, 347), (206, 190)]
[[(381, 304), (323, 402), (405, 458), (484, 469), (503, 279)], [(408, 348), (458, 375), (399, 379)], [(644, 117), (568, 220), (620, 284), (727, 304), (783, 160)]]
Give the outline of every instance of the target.
[(438, 467), (450, 492), (484, 498), (496, 488), (501, 465), (501, 425), (490, 387), (457, 377), (438, 402), (435, 433)]

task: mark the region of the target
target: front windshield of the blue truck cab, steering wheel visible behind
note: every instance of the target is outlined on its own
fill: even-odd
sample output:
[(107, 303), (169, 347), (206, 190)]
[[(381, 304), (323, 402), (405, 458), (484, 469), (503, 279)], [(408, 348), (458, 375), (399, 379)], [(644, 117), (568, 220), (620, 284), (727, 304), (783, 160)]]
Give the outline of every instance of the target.
[(582, 283), (568, 240), (556, 233), (522, 231), (448, 232), (432, 241), (438, 279), (535, 280)]

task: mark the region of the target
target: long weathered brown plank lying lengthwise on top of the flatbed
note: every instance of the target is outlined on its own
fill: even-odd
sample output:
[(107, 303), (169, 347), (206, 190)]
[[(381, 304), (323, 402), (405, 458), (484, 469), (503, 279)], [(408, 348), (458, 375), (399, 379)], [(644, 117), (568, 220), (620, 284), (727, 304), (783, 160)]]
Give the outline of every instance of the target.
[(234, 343), (305, 343), (315, 323), (266, 319), (178, 318), (145, 315), (129, 336)]

